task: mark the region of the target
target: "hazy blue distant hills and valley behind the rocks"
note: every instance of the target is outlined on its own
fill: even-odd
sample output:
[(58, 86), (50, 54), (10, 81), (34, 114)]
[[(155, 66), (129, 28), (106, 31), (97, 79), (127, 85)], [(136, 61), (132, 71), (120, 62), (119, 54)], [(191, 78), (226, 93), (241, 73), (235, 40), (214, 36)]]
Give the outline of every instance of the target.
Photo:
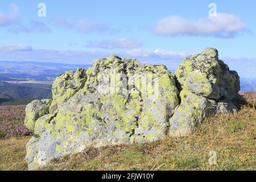
[[(0, 105), (52, 98), (52, 82), (58, 75), (88, 67), (90, 65), (0, 61)], [(256, 78), (241, 78), (241, 92), (255, 92), (255, 85)]]

